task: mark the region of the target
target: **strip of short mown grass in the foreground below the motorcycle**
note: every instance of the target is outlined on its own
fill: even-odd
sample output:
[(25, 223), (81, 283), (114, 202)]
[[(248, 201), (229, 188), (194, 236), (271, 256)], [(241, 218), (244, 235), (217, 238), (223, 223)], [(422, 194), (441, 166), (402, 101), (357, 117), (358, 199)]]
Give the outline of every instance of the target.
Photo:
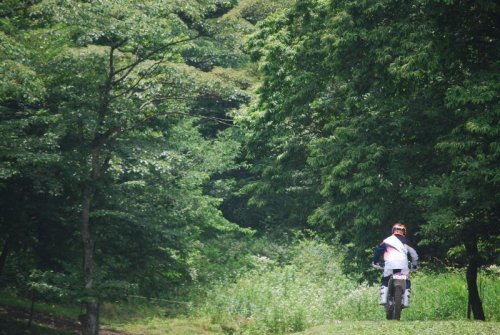
[(295, 335), (498, 335), (498, 322), (481, 321), (337, 321)]

